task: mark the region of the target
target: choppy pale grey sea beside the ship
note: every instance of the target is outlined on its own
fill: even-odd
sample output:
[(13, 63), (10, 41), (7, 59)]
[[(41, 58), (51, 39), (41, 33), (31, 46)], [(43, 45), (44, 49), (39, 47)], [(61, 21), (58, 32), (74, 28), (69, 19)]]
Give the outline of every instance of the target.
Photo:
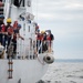
[(38, 83), (83, 83), (83, 60), (55, 60)]

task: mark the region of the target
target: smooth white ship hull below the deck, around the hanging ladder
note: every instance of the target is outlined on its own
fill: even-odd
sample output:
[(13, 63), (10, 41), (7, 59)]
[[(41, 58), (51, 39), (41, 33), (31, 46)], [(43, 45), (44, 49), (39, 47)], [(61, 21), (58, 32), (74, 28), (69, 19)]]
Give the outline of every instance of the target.
[(9, 79), (8, 62), (0, 60), (0, 83), (35, 83), (48, 70), (48, 64), (39, 60), (12, 60), (12, 79)]

